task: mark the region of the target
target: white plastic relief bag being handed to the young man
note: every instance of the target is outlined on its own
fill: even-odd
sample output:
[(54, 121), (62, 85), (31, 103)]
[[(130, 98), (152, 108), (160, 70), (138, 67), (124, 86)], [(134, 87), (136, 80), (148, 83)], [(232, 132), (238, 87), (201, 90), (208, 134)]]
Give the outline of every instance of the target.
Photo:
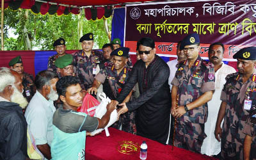
[[(105, 113), (107, 112), (107, 105), (109, 104), (109, 102), (111, 102), (111, 100), (109, 99), (109, 97), (106, 96), (106, 94), (100, 93), (99, 95), (101, 102), (99, 104), (99, 106), (97, 106), (97, 108), (95, 109), (95, 117), (97, 118), (102, 118), (102, 116), (105, 115)], [(108, 125), (106, 125), (106, 127), (104, 128), (106, 131), (106, 136), (109, 136), (109, 132), (108, 132), (108, 127), (112, 124), (114, 124), (117, 120), (117, 111), (116, 109), (111, 113)], [(104, 129), (97, 129), (93, 132), (91, 132), (92, 135), (97, 134), (98, 132), (103, 131)]]

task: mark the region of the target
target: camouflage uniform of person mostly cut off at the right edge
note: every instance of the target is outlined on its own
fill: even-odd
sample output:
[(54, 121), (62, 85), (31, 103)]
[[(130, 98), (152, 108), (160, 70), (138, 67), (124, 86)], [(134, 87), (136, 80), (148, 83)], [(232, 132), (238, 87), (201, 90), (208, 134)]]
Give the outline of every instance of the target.
[(256, 109), (250, 114), (250, 118), (246, 121), (246, 125), (244, 127), (244, 134), (252, 137), (252, 144), (250, 150), (250, 159), (256, 159)]

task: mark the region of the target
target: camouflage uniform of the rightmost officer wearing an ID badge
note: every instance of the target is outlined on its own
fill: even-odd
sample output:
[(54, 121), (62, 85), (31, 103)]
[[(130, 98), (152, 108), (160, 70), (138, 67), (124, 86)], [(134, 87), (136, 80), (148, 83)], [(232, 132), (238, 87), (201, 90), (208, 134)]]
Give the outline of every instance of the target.
[(243, 159), (243, 129), (249, 111), (244, 109), (244, 99), (248, 96), (252, 105), (256, 104), (256, 71), (246, 83), (238, 72), (229, 74), (221, 92), (221, 100), (227, 102), (221, 135), (221, 159)]

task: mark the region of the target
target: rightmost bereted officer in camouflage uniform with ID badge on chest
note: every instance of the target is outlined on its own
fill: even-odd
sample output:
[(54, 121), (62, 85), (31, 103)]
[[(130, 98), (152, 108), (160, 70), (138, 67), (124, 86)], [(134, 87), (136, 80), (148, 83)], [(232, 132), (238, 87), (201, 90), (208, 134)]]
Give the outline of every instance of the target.
[(256, 104), (256, 47), (241, 49), (233, 58), (237, 59), (238, 72), (226, 77), (215, 127), (215, 137), (221, 138), (221, 159), (225, 160), (243, 159), (243, 129), (251, 106)]

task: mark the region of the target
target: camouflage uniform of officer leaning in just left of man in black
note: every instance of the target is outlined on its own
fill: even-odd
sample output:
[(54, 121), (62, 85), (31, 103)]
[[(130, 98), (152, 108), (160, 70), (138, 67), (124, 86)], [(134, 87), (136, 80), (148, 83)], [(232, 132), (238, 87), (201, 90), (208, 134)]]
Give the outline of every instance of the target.
[[(124, 84), (127, 82), (130, 72), (131, 68), (126, 66), (118, 75), (114, 65), (111, 65), (109, 67), (105, 67), (105, 69), (101, 68), (99, 74), (95, 76), (95, 79), (100, 83), (104, 83), (104, 81), (108, 79), (108, 83), (112, 92), (107, 96), (109, 99), (116, 99), (122, 88), (124, 88)], [(122, 131), (136, 134), (135, 111), (127, 112), (121, 115), (118, 122), (113, 124), (111, 127), (119, 129), (121, 125)]]

